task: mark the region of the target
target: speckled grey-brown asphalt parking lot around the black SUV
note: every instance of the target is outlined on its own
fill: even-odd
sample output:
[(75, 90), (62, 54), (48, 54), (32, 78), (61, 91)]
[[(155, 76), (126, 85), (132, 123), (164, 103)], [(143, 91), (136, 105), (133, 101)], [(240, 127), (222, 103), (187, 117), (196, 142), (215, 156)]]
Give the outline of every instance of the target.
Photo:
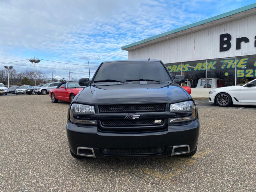
[(197, 100), (200, 135), (190, 158), (74, 159), (69, 103), (15, 94), (0, 102), (0, 191), (256, 190), (255, 106)]

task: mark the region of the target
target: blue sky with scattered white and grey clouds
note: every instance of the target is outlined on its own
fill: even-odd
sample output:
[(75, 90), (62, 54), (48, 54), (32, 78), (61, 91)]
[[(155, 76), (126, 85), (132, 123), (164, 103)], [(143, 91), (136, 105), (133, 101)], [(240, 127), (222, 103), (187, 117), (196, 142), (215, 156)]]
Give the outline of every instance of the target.
[(93, 75), (102, 61), (127, 59), (128, 52), (121, 46), (252, 3), (255, 2), (2, 0), (0, 70), (4, 65), (12, 65), (17, 71), (34, 70), (28, 60), (1, 63), (36, 57), (41, 59), (36, 70), (49, 78), (53, 73), (53, 77), (68, 79), (69, 69), (73, 79), (89, 77), (88, 61)]

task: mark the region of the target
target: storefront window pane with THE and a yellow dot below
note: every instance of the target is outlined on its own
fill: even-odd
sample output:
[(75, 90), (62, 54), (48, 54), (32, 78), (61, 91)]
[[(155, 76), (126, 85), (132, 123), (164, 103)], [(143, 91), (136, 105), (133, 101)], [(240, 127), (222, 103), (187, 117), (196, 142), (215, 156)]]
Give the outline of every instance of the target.
[(207, 88), (235, 85), (236, 58), (207, 60)]

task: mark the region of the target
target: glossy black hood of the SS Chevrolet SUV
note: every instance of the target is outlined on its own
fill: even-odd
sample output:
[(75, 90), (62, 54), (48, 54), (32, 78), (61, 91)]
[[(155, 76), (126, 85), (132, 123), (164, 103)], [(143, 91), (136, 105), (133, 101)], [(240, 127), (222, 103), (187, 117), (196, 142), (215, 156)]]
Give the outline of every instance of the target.
[(191, 99), (177, 84), (118, 84), (84, 88), (74, 99), (85, 104), (175, 103)]

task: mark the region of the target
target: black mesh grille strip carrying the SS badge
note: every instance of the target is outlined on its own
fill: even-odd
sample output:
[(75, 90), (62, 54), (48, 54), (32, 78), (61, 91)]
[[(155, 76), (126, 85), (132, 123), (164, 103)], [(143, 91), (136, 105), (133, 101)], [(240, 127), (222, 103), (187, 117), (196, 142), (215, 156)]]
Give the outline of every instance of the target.
[[(157, 121), (155, 123), (155, 121)], [(161, 121), (161, 122), (160, 122)], [(136, 125), (161, 125), (163, 123), (163, 119), (138, 119), (138, 120), (102, 120), (101, 123), (104, 126), (136, 126)]]

